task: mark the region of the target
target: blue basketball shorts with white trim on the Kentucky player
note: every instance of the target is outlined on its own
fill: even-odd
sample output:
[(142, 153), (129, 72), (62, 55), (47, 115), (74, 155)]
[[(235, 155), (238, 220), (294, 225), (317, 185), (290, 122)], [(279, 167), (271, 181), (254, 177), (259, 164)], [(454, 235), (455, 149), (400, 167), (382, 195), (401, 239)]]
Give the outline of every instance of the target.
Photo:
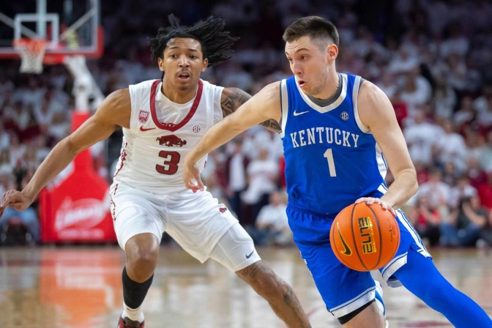
[[(330, 228), (336, 214), (317, 214), (289, 204), (287, 216), (294, 241), (328, 311), (339, 318), (375, 298), (375, 282), (371, 273), (345, 267), (332, 251)], [(400, 227), (400, 247), (395, 257), (379, 270), (386, 283), (392, 287), (401, 285), (393, 274), (405, 265), (409, 250), (430, 257), (417, 231), (401, 210), (397, 210), (397, 222)]]

